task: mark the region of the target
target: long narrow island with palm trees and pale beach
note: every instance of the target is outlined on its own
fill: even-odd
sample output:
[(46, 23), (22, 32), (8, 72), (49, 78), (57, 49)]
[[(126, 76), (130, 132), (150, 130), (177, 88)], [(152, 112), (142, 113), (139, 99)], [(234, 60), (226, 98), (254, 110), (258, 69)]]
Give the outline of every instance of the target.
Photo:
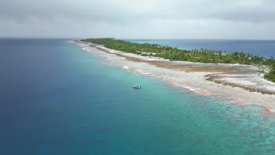
[(275, 60), (272, 56), (265, 58), (239, 51), (202, 48), (187, 50), (114, 38), (75, 42), (84, 50), (104, 56), (107, 60), (103, 60), (103, 64), (163, 79), (202, 95), (221, 95), (233, 104), (265, 107), (264, 113), (275, 111)]

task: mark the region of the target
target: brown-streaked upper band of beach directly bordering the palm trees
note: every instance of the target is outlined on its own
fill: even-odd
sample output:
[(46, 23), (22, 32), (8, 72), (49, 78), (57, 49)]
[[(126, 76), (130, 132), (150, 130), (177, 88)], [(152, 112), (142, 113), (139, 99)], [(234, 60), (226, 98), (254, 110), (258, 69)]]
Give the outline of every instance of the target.
[(153, 60), (152, 57), (127, 55), (120, 51), (113, 51), (102, 47), (98, 44), (90, 44), (99, 50), (107, 53), (115, 54), (119, 57), (124, 57), (128, 61), (144, 62), (160, 68), (180, 70), (185, 72), (209, 72), (205, 80), (223, 84), (225, 86), (239, 87), (251, 92), (260, 92), (262, 94), (275, 94), (275, 83), (263, 79), (267, 73), (267, 66), (251, 66), (251, 65), (232, 65), (232, 64), (196, 64), (187, 62), (171, 62), (163, 61), (163, 59)]

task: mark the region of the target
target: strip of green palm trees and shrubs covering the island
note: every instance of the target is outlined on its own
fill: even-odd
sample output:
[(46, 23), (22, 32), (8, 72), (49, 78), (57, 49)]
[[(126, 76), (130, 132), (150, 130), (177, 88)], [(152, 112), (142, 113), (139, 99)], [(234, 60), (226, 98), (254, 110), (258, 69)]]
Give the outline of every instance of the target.
[(171, 61), (188, 61), (200, 63), (223, 63), (223, 64), (246, 64), (246, 65), (266, 65), (271, 70), (265, 74), (264, 78), (275, 82), (275, 60), (272, 56), (264, 58), (261, 56), (253, 56), (243, 52), (211, 50), (211, 49), (179, 49), (159, 44), (150, 43), (133, 43), (125, 40), (117, 40), (114, 38), (90, 38), (80, 41), (92, 42), (95, 44), (104, 44), (104, 47), (123, 51), (125, 53), (133, 53), (142, 56), (160, 57)]

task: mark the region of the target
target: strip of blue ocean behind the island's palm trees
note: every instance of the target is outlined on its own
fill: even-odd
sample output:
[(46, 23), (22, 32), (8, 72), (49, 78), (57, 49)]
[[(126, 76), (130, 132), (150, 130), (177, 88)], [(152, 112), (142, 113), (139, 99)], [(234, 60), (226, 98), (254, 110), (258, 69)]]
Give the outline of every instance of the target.
[(158, 43), (181, 49), (242, 51), (255, 56), (275, 56), (275, 40), (125, 39), (137, 43)]

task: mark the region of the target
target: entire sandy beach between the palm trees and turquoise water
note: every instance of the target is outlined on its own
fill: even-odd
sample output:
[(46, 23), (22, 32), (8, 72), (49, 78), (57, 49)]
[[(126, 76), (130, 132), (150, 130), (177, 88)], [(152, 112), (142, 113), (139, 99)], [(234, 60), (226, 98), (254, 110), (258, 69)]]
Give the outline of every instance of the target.
[(75, 43), (83, 50), (103, 57), (102, 64), (119, 66), (148, 78), (163, 79), (201, 95), (222, 95), (232, 104), (257, 105), (265, 114), (275, 112), (275, 83), (263, 79), (268, 67), (169, 61), (123, 53), (98, 44)]

